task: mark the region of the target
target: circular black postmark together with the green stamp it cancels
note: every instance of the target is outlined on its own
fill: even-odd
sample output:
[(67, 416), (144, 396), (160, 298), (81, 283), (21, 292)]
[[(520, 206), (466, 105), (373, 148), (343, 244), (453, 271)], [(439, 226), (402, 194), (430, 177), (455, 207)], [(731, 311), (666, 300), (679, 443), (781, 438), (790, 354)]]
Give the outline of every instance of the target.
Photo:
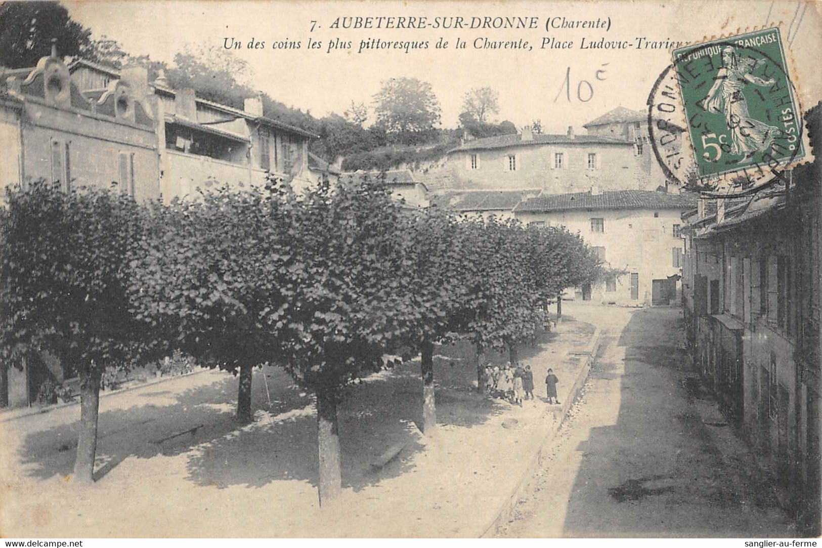
[(649, 94), (648, 126), (663, 173), (682, 187), (737, 193), (783, 178), (804, 154), (804, 127), (778, 29), (675, 50)]

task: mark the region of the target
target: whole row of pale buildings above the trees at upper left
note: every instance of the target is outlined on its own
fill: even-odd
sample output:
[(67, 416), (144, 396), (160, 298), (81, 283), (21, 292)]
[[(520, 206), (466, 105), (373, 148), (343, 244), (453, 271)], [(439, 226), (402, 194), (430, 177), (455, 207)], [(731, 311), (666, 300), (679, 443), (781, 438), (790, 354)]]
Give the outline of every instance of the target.
[(297, 187), (312, 181), (312, 134), (266, 118), (259, 97), (234, 109), (173, 90), (162, 75), (149, 82), (143, 67), (65, 63), (56, 52), (2, 77), (3, 185), (115, 185), (168, 202), (265, 183), (267, 174)]

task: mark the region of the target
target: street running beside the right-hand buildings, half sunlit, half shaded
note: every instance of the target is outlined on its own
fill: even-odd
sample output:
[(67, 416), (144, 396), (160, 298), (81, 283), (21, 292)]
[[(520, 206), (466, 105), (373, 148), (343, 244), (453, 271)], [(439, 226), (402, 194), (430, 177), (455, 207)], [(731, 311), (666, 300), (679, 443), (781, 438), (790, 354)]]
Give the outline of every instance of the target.
[(598, 365), (499, 535), (794, 535), (746, 447), (683, 388), (679, 309), (574, 314), (603, 327)]

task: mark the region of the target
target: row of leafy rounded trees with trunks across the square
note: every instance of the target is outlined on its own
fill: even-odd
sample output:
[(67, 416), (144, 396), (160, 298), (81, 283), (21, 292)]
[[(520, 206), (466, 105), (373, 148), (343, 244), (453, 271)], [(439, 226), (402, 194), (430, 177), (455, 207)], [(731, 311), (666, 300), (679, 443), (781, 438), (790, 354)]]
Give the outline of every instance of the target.
[(429, 434), (437, 343), (515, 358), (548, 301), (598, 272), (579, 235), (410, 210), (365, 180), (170, 206), (40, 183), (8, 193), (0, 236), (4, 363), (48, 351), (81, 378), (76, 481), (92, 481), (104, 370), (182, 351), (239, 375), (242, 421), (253, 367), (279, 365), (316, 395), (323, 503), (341, 489), (336, 410), (358, 378), (422, 355)]

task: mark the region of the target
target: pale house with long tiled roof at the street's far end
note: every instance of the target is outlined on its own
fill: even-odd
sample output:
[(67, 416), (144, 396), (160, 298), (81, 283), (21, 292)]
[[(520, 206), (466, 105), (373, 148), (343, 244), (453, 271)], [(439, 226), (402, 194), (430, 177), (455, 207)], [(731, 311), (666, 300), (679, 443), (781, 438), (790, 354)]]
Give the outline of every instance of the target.
[(612, 272), (580, 298), (603, 304), (672, 304), (681, 296), (681, 215), (695, 198), (649, 190), (540, 194), (514, 207), (524, 223), (579, 232)]

